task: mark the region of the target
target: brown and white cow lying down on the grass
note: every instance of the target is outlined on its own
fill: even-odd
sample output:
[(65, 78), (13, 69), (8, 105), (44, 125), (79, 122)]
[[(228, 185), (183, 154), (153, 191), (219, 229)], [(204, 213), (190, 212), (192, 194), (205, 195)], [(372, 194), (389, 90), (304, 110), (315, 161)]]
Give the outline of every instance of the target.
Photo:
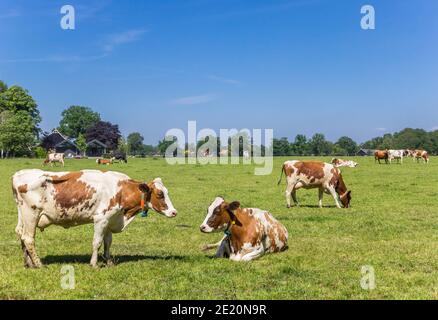
[(222, 197), (208, 207), (200, 230), (225, 233), (221, 241), (203, 248), (204, 251), (218, 248), (217, 258), (250, 261), (287, 249), (287, 230), (268, 211), (241, 208), (238, 201), (227, 203)]

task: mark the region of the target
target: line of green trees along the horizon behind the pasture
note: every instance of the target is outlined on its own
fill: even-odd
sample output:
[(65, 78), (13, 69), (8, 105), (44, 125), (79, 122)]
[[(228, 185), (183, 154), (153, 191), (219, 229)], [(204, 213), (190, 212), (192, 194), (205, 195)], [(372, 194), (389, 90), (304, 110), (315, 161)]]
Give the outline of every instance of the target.
[[(47, 151), (53, 145), (48, 132), (39, 127), (41, 115), (38, 105), (29, 92), (20, 86), (8, 87), (0, 81), (0, 151), (1, 157), (35, 156)], [(74, 139), (81, 152), (85, 152), (87, 143), (96, 139), (104, 143), (108, 150), (120, 150), (131, 156), (163, 155), (172, 140), (163, 139), (157, 145), (147, 145), (139, 132), (130, 133), (126, 139), (121, 135), (117, 124), (103, 121), (99, 113), (86, 106), (70, 106), (61, 113), (57, 130), (63, 135)], [(209, 139), (217, 139), (220, 153), (219, 138), (206, 137), (197, 145), (186, 150), (198, 150)], [(230, 138), (233, 139), (233, 138)], [(251, 145), (249, 137), (239, 137), (239, 145)], [(230, 141), (228, 141), (230, 145)], [(253, 146), (255, 148), (256, 146)], [(264, 154), (264, 146), (261, 148)], [(438, 130), (428, 132), (423, 129), (406, 128), (394, 134), (385, 134), (358, 144), (352, 138), (343, 136), (336, 142), (327, 140), (322, 133), (316, 133), (307, 138), (298, 134), (293, 141), (283, 137), (275, 138), (272, 144), (274, 156), (353, 156), (360, 149), (425, 149), (430, 154), (438, 154)], [(242, 151), (240, 150), (240, 153)], [(241, 155), (241, 154), (240, 154)]]

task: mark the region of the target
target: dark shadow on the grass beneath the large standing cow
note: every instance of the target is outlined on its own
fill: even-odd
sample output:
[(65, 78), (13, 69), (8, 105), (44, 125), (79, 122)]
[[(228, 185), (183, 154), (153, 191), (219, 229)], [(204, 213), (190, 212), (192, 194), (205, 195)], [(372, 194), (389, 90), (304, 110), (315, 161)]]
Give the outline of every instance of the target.
[[(127, 262), (136, 262), (143, 260), (187, 260), (188, 257), (180, 255), (115, 255), (111, 256), (116, 265), (123, 264)], [(83, 263), (89, 264), (91, 255), (85, 254), (74, 254), (74, 255), (59, 255), (59, 256), (46, 256), (42, 259), (42, 263), (46, 265), (50, 264), (69, 264), (69, 263)], [(103, 261), (100, 257), (99, 262)]]

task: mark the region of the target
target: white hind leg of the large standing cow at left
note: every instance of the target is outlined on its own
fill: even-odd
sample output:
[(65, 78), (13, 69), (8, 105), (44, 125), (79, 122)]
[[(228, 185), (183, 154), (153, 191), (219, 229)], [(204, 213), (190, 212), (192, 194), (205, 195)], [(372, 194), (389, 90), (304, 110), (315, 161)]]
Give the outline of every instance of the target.
[[(22, 216), (23, 231), (21, 234), (21, 244), (23, 253), (25, 255), (25, 263), (30, 268), (40, 268), (42, 266), (41, 260), (38, 257), (35, 249), (35, 233), (38, 225), (38, 213), (34, 210), (24, 210), (22, 212), (25, 216)], [(26, 213), (29, 213), (26, 215)]]

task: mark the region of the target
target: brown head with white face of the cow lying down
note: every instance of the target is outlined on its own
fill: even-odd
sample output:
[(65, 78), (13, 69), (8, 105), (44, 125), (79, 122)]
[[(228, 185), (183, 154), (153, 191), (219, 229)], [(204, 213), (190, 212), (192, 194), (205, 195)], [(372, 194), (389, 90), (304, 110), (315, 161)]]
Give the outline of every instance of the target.
[(235, 221), (234, 211), (239, 207), (240, 203), (237, 201), (227, 203), (222, 197), (217, 197), (207, 209), (207, 216), (199, 227), (201, 232), (225, 230), (231, 221)]

